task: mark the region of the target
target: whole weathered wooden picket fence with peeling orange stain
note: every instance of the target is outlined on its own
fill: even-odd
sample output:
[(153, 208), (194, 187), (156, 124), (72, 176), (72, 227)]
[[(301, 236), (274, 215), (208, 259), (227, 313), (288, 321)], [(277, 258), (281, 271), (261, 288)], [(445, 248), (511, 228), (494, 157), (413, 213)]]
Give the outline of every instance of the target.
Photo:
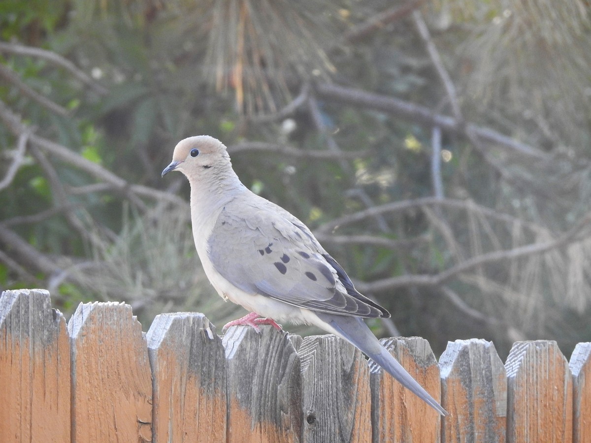
[[(80, 304), (66, 325), (40, 289), (0, 298), (1, 442), (591, 441), (591, 343), (570, 363), (554, 341), (385, 345), (440, 416), (333, 335), (263, 327), (219, 337), (203, 314), (155, 318)], [(590, 385), (586, 385), (589, 375)]]

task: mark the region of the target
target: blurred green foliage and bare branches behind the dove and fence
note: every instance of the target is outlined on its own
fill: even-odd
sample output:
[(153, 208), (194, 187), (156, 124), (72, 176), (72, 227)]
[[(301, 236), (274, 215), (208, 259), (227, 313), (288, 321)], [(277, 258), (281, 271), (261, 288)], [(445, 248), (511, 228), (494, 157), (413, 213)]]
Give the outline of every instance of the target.
[[(178, 140), (309, 224), (379, 335), (591, 340), (586, 0), (6, 0), (0, 289), (242, 315), (194, 251)], [(290, 327), (297, 333), (316, 333)]]

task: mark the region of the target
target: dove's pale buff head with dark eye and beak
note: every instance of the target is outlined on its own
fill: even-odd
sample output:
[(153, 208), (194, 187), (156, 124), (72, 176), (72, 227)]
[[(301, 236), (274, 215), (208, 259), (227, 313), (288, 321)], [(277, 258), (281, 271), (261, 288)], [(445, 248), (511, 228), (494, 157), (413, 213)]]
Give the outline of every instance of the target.
[(204, 170), (226, 164), (230, 164), (226, 146), (209, 135), (197, 135), (178, 142), (173, 161), (164, 168), (162, 177), (170, 171), (183, 172), (189, 178), (199, 177)]

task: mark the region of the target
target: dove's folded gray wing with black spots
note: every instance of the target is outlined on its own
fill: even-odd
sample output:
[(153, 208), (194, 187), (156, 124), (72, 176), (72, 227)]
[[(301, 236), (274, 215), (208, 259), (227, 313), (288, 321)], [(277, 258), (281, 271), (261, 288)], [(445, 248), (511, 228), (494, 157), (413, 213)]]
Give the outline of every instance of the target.
[(263, 198), (228, 204), (207, 246), (216, 271), (243, 291), (313, 311), (389, 317), (355, 290), (300, 220)]

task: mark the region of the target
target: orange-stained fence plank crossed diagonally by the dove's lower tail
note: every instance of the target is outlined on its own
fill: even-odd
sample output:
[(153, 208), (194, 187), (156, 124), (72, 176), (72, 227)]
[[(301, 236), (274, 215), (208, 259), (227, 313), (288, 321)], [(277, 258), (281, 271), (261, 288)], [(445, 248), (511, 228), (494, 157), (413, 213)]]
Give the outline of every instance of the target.
[[(427, 340), (396, 337), (381, 340), (398, 362), (434, 399), (441, 396), (437, 360)], [(370, 360), (374, 442), (441, 439), (441, 416)]]

